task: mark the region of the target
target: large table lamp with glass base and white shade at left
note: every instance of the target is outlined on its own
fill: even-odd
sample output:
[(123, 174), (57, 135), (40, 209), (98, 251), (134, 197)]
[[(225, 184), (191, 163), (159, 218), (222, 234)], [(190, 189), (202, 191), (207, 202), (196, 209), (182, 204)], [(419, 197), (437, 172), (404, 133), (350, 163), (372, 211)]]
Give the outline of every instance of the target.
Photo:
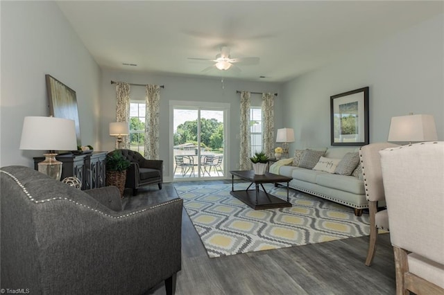
[(60, 180), (62, 162), (56, 159), (56, 151), (77, 150), (74, 120), (54, 117), (25, 117), (20, 150), (49, 150), (44, 161), (37, 164), (39, 172)]

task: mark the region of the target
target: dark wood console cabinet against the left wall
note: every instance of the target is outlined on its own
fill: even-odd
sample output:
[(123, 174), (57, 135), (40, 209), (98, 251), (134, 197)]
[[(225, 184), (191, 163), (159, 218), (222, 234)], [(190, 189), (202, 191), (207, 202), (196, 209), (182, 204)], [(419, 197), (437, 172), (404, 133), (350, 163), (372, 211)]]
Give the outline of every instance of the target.
[[(62, 162), (62, 177), (75, 176), (82, 183), (82, 190), (105, 186), (107, 152), (90, 152), (86, 154), (59, 154), (56, 159)], [(34, 169), (44, 157), (34, 158)]]

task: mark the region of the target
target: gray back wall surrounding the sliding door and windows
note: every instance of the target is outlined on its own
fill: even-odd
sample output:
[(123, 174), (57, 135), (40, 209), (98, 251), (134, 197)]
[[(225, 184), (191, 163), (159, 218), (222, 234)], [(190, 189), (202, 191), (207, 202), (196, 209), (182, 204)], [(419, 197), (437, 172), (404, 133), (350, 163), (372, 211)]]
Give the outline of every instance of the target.
[[(164, 177), (171, 180), (173, 165), (170, 162), (170, 116), (169, 101), (198, 101), (198, 102), (224, 102), (230, 104), (230, 130), (228, 130), (228, 169), (236, 170), (239, 164), (239, 102), (240, 94), (237, 90), (257, 92), (280, 92), (280, 84), (266, 82), (243, 82), (239, 80), (220, 78), (190, 78), (183, 76), (151, 75), (138, 73), (123, 73), (103, 70), (102, 100), (101, 100), (101, 143), (104, 150), (114, 150), (115, 138), (108, 133), (108, 125), (116, 120), (116, 94), (115, 84), (110, 81), (122, 81), (135, 84), (159, 84), (165, 88), (160, 91), (160, 159), (164, 160), (166, 171)], [(131, 98), (145, 98), (145, 89), (140, 86), (131, 87)], [(260, 106), (262, 96), (252, 94), (251, 104)], [(275, 98), (275, 129), (282, 125), (282, 99), (279, 95)], [(172, 157), (172, 156), (171, 156)], [(230, 175), (228, 175), (230, 177)]]

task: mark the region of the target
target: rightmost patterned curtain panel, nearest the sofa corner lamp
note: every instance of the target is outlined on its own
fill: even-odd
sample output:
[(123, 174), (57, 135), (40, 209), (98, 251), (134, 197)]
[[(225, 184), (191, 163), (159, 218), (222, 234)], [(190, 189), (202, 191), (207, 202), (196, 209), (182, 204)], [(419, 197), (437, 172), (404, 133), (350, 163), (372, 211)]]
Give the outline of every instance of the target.
[(273, 93), (262, 93), (262, 145), (268, 157), (274, 157), (275, 145), (275, 96)]

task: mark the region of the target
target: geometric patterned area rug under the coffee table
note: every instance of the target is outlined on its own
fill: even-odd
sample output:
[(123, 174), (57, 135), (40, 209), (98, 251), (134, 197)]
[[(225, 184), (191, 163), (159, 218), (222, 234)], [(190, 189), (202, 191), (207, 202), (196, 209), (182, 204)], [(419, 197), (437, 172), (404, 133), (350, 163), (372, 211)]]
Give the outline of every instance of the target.
[[(236, 190), (249, 184), (234, 184)], [(264, 184), (287, 198), (287, 188)], [(210, 258), (369, 235), (368, 215), (290, 189), (291, 208), (253, 210), (230, 195), (231, 184), (176, 186)]]

